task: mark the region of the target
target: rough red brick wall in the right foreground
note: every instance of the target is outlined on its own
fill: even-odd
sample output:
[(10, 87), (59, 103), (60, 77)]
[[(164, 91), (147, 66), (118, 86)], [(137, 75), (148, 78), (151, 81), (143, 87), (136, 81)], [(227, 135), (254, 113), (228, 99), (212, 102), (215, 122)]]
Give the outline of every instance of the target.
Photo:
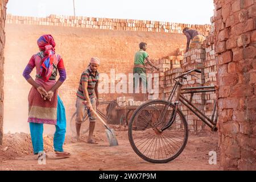
[(255, 170), (256, 1), (214, 3), (221, 165)]

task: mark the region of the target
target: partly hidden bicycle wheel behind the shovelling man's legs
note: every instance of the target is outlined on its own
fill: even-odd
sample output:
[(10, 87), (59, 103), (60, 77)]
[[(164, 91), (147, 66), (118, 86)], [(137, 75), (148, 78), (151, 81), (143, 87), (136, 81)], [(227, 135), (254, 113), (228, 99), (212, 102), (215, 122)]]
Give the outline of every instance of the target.
[[(76, 135), (76, 112), (72, 115), (70, 119), (70, 129), (72, 131), (72, 134)], [(82, 119), (80, 134), (85, 134), (88, 131), (89, 131), (89, 119), (88, 119), (88, 113), (85, 112), (85, 115)]]

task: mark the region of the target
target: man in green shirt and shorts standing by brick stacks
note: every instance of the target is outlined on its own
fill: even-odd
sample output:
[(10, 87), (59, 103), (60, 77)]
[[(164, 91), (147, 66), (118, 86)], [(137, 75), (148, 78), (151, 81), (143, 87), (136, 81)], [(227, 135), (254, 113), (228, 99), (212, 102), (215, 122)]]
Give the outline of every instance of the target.
[[(139, 43), (139, 51), (135, 53), (134, 56), (134, 68), (133, 68), (133, 74), (137, 73), (140, 77), (137, 82), (134, 78), (134, 89), (137, 89), (138, 82), (139, 85), (143, 84), (143, 89), (147, 89), (147, 76), (146, 76), (146, 69), (150, 69), (151, 71), (157, 69), (159, 71), (159, 68), (156, 68), (154, 64), (151, 63), (151, 61), (148, 59), (148, 53), (146, 52), (147, 49), (147, 43), (141, 42)], [(145, 61), (146, 60), (146, 61)], [(148, 63), (151, 67), (146, 67), (146, 63)], [(134, 75), (135, 76), (135, 75)], [(136, 93), (136, 92), (134, 92)], [(146, 92), (147, 93), (147, 92)], [(143, 98), (145, 101), (146, 99)]]

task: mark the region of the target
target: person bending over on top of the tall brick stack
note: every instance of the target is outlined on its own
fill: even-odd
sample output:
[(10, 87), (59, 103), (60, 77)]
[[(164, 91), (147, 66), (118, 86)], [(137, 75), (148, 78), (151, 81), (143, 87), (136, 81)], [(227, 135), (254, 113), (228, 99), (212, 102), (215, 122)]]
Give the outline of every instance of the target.
[(192, 30), (188, 27), (185, 27), (183, 29), (183, 34), (187, 36), (186, 52), (188, 52), (189, 49), (196, 48), (197, 45), (203, 44), (205, 40), (204, 35), (201, 35), (199, 31)]

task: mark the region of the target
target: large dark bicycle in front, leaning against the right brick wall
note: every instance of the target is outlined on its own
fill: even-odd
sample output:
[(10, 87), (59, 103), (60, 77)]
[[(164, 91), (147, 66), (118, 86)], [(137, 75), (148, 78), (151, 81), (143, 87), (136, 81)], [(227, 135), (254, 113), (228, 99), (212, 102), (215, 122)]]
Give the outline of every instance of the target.
[[(131, 116), (128, 130), (129, 142), (134, 152), (147, 162), (167, 163), (177, 158), (184, 150), (188, 141), (188, 123), (179, 109), (180, 103), (197, 115), (212, 131), (217, 131), (217, 101), (214, 101), (211, 118), (191, 103), (194, 93), (216, 90), (214, 86), (183, 88), (183, 80), (187, 80), (186, 76), (195, 76), (191, 74), (192, 72), (201, 73), (199, 69), (192, 69), (175, 77), (175, 85), (168, 100), (147, 101)], [(175, 93), (176, 97), (174, 97)], [(189, 93), (191, 98), (187, 100), (183, 94)], [(172, 98), (175, 100), (174, 103)]]

